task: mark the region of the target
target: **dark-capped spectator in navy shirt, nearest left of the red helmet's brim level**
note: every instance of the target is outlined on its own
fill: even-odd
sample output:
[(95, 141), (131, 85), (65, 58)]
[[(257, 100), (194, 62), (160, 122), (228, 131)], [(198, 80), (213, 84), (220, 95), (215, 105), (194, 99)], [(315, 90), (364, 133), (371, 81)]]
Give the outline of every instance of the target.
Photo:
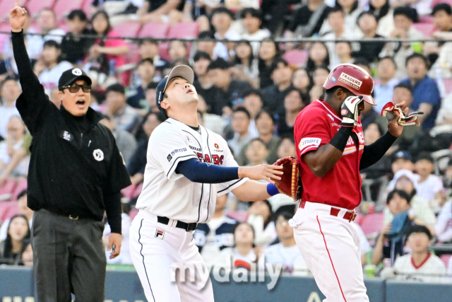
[(290, 83), (292, 72), (285, 59), (277, 59), (275, 61), (275, 69), (271, 73), (274, 85), (262, 91), (263, 107), (266, 110), (275, 113), (284, 111), (284, 98), (292, 87)]

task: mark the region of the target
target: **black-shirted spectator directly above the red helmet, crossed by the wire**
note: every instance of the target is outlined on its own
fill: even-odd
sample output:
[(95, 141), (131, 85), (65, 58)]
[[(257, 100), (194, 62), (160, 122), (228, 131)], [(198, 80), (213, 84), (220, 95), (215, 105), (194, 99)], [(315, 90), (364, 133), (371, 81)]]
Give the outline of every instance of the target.
[[(362, 33), (364, 33), (364, 39), (383, 37), (376, 33), (379, 23), (370, 11), (360, 13), (357, 24)], [(352, 52), (352, 57), (362, 57), (369, 62), (376, 62), (379, 60), (379, 54), (383, 50), (385, 42), (360, 42), (359, 44), (361, 45), (359, 51)]]

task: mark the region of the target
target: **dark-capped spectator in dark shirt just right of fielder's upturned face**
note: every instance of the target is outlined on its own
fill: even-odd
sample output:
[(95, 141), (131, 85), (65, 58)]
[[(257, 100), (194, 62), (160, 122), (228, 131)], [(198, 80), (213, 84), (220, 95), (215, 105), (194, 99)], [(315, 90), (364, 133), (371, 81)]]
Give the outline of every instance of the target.
[[(225, 107), (232, 108), (240, 98), (243, 98), (244, 92), (252, 88), (246, 81), (232, 80), (229, 68), (230, 64), (224, 59), (216, 59), (207, 68), (208, 77), (213, 85), (219, 88), (217, 103), (222, 107), (222, 112), (225, 112)], [(229, 109), (225, 113), (230, 112)]]

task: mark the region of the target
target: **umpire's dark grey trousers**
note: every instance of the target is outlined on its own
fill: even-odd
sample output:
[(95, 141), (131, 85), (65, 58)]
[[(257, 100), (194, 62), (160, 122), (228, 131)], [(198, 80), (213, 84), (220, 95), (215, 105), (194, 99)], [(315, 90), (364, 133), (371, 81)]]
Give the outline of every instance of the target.
[(32, 225), (38, 302), (102, 302), (105, 298), (104, 223), (41, 209)]

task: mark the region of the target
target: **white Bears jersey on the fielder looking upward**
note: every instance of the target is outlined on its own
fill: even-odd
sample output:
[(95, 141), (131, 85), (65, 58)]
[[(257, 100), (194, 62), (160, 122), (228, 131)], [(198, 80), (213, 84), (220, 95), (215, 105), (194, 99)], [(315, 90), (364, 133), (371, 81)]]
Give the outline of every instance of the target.
[(220, 135), (199, 128), (201, 133), (172, 118), (155, 128), (149, 139), (143, 190), (136, 203), (138, 209), (186, 223), (208, 222), (215, 211), (217, 196), (248, 180), (198, 183), (175, 172), (179, 162), (190, 158), (214, 165), (238, 166)]

